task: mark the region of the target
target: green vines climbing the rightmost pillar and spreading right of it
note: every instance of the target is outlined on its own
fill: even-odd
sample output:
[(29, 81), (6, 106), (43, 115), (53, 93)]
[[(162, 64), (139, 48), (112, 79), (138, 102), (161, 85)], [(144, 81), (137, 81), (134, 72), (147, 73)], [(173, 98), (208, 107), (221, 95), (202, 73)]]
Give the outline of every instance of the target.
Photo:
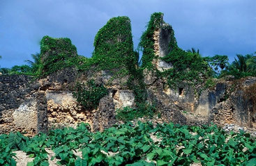
[[(143, 33), (139, 47), (143, 51), (142, 67), (154, 69), (159, 77), (167, 78), (167, 83), (174, 88), (180, 83), (202, 83), (205, 77), (209, 76), (210, 68), (208, 63), (199, 55), (199, 53), (190, 53), (180, 49), (174, 37), (172, 26), (163, 26), (163, 13), (153, 13), (151, 19), (147, 24), (146, 31)], [(170, 34), (170, 53), (164, 58), (160, 58), (167, 63), (172, 63), (173, 68), (167, 69), (165, 72), (159, 72), (156, 67), (152, 65), (154, 58), (159, 58), (154, 52), (153, 34), (158, 28), (171, 28)]]

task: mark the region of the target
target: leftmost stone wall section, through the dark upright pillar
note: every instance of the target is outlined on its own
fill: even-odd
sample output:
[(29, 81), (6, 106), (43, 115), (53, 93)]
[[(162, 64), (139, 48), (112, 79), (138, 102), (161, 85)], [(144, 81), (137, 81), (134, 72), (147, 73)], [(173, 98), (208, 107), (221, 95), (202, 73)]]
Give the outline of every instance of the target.
[(45, 99), (39, 87), (29, 76), (0, 76), (0, 133), (45, 131)]

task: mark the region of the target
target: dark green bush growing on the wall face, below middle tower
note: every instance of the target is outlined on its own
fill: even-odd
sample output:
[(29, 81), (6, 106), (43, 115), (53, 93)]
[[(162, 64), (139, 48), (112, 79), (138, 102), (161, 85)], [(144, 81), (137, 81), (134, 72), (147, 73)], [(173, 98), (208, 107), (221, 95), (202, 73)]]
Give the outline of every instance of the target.
[(107, 89), (102, 84), (97, 85), (94, 80), (90, 80), (86, 85), (77, 83), (73, 96), (84, 108), (93, 109), (98, 107), (100, 99), (107, 95), (107, 93)]

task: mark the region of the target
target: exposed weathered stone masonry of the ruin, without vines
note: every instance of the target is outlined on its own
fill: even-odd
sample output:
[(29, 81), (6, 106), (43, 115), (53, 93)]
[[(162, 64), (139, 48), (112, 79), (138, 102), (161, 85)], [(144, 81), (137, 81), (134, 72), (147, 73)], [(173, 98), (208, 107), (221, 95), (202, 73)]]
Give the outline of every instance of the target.
[[(163, 18), (162, 23), (152, 36), (157, 57), (164, 57), (172, 50), (172, 27), (164, 23)], [(152, 63), (160, 72), (172, 67), (158, 58)], [(103, 83), (108, 95), (100, 99), (98, 108), (85, 110), (72, 93), (75, 83), (86, 83), (91, 78)], [(123, 85), (127, 80), (128, 77), (115, 78), (113, 72), (107, 70), (81, 72), (75, 67), (66, 67), (37, 80), (31, 76), (1, 75), (0, 133), (20, 131), (34, 135), (46, 133), (50, 128), (75, 127), (80, 122), (89, 123), (93, 131), (102, 131), (116, 124), (116, 109), (136, 107), (133, 90)], [(146, 69), (144, 83), (147, 102), (155, 104), (161, 115), (157, 122), (188, 125), (213, 122), (218, 126), (237, 124), (255, 128), (255, 100), (246, 92), (255, 87), (256, 78), (223, 78), (199, 95), (186, 83), (170, 88), (163, 78)]]

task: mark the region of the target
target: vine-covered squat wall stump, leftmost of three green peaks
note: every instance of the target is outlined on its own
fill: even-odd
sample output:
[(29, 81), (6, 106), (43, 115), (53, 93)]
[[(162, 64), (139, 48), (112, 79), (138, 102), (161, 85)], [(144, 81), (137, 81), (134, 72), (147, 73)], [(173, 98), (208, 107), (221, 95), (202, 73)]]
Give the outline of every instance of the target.
[[(42, 74), (48, 75), (64, 67), (73, 66), (77, 58), (77, 49), (68, 38), (43, 37), (40, 42), (40, 60)], [(36, 63), (36, 62), (35, 62)]]

